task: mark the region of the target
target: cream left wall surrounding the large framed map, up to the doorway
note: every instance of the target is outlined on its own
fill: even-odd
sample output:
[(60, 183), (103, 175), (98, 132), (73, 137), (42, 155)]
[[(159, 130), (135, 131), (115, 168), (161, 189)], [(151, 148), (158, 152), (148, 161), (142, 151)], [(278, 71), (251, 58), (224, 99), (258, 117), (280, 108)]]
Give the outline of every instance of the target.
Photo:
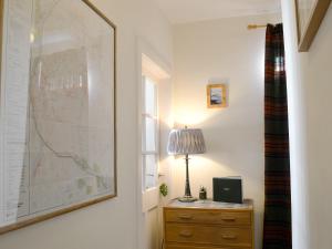
[(137, 249), (137, 44), (172, 63), (172, 28), (149, 0), (92, 0), (116, 25), (118, 197), (0, 236), (1, 249)]

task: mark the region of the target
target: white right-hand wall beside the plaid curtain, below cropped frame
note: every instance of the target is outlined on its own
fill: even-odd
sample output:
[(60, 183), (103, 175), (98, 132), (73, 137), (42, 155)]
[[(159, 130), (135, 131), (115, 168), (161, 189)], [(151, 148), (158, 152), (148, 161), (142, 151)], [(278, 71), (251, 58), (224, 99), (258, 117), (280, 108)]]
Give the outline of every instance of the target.
[(308, 53), (297, 51), (293, 1), (282, 1), (289, 87), (294, 249), (332, 245), (332, 9)]

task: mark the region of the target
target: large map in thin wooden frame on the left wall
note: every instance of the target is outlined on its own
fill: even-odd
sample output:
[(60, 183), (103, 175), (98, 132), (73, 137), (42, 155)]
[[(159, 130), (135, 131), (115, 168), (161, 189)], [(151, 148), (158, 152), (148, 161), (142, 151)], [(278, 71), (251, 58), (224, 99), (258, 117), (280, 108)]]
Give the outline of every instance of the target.
[(0, 0), (0, 234), (116, 196), (116, 28), (87, 0)]

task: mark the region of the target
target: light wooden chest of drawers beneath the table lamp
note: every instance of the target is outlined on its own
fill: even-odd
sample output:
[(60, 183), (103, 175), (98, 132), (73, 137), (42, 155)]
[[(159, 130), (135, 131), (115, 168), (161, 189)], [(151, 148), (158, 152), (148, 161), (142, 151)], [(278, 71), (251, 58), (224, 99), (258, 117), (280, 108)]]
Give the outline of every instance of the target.
[(165, 249), (253, 249), (253, 207), (211, 200), (164, 207)]

